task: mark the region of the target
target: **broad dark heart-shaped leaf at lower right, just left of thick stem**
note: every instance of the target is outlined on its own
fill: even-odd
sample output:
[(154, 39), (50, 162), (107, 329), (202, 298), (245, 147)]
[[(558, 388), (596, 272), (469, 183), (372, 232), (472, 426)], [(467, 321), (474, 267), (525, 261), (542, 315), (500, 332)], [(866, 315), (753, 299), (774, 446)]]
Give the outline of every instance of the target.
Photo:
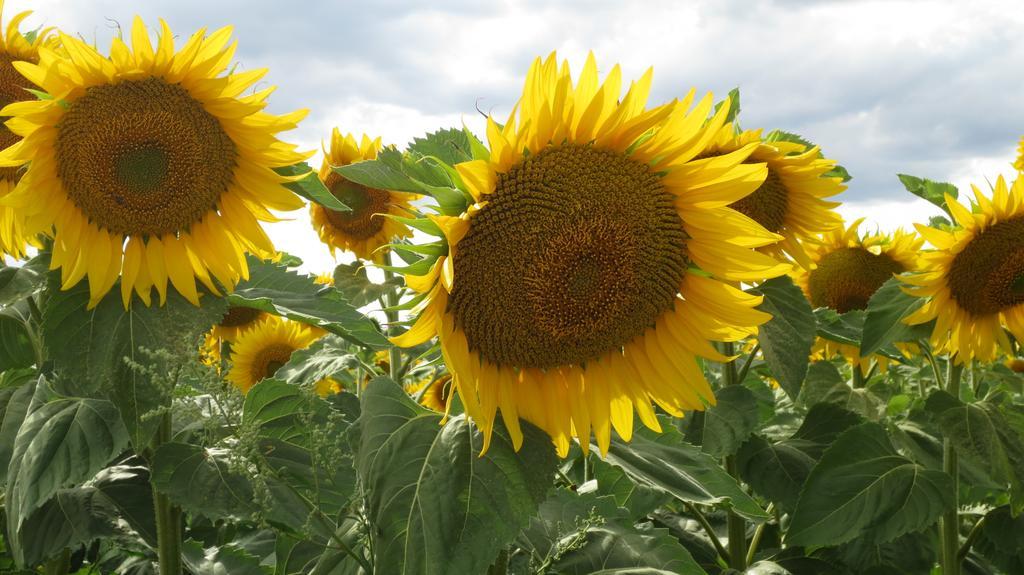
[(896, 452), (885, 429), (865, 423), (843, 432), (811, 472), (786, 543), (837, 545), (862, 537), (884, 543), (920, 531), (956, 504), (945, 473)]

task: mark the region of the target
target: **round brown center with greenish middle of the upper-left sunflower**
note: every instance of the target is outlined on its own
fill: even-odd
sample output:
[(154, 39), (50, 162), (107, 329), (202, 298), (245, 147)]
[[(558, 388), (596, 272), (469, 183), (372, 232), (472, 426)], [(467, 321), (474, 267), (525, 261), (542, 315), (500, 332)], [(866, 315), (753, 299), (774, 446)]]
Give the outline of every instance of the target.
[(159, 78), (93, 86), (57, 127), (57, 175), (93, 222), (123, 234), (186, 230), (216, 210), (239, 151), (202, 102)]

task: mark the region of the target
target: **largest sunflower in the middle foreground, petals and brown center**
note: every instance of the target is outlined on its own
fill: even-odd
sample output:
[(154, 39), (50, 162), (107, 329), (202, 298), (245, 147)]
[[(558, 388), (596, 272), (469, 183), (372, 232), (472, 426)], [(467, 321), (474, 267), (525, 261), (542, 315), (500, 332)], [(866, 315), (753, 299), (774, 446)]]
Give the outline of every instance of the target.
[[(598, 85), (591, 55), (573, 85), (555, 54), (530, 68), (504, 125), (487, 120), (489, 159), (456, 166), (475, 204), (436, 216), (449, 251), (425, 275), (420, 314), (393, 341), (437, 336), (454, 389), (487, 448), (498, 410), (516, 448), (519, 416), (558, 453), (593, 431), (606, 452), (629, 440), (634, 409), (682, 415), (714, 396), (696, 356), (709, 340), (757, 333), (770, 316), (730, 281), (785, 273), (753, 249), (777, 241), (728, 208), (766, 177), (757, 144), (696, 156), (725, 122), (709, 94), (648, 109), (651, 72), (620, 98), (621, 72)], [(699, 271), (695, 269), (699, 266)]]

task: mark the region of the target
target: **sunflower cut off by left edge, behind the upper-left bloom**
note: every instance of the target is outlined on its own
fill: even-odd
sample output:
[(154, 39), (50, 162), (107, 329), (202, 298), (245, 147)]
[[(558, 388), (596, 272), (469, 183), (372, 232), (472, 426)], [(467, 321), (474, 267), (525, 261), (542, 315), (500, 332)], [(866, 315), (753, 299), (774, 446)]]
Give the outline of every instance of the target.
[[(3, 13), (3, 0), (0, 0), (0, 13)], [(36, 63), (39, 61), (39, 47), (52, 44), (53, 36), (48, 30), (41, 31), (33, 37), (27, 37), (18, 31), (25, 18), (32, 14), (31, 10), (19, 12), (7, 24), (7, 33), (0, 29), (0, 107), (12, 102), (35, 100), (36, 96), (28, 90), (31, 84), (17, 73), (15, 61)], [(0, 125), (0, 149), (13, 145), (18, 140), (14, 132)], [(22, 172), (17, 168), (0, 168), (0, 197), (4, 197), (14, 189)], [(0, 205), (0, 254), (9, 254), (14, 258), (25, 256), (26, 246), (34, 242), (33, 238), (23, 229), (20, 217), (15, 210)]]

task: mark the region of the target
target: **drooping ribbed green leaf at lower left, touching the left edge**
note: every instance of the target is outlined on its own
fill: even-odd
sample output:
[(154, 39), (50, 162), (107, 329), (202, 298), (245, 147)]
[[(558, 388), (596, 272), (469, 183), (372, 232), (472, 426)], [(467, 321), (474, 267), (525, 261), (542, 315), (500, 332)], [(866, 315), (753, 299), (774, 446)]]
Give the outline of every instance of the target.
[(128, 432), (109, 401), (58, 398), (32, 410), (14, 440), (7, 471), (8, 532), (16, 532), (59, 489), (91, 478), (126, 447)]

